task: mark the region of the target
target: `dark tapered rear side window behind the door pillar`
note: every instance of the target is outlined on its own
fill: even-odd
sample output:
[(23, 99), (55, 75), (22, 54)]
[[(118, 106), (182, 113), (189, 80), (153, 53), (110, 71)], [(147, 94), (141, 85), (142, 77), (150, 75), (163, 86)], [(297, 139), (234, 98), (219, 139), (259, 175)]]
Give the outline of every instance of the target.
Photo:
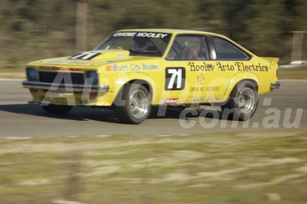
[(213, 37), (213, 42), (215, 45), (216, 59), (249, 59), (249, 56), (247, 54), (245, 54), (238, 47), (226, 40), (223, 40), (218, 37)]

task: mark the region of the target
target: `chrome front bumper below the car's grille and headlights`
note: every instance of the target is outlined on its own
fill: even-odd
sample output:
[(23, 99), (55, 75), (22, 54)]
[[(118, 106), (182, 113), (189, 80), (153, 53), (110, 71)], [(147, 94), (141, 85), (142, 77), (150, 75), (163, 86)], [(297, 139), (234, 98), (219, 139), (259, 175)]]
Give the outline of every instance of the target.
[(24, 88), (28, 89), (45, 89), (52, 91), (64, 91), (66, 93), (72, 92), (94, 92), (94, 93), (106, 93), (109, 90), (107, 85), (81, 85), (81, 84), (56, 84), (45, 83), (40, 81), (22, 81)]

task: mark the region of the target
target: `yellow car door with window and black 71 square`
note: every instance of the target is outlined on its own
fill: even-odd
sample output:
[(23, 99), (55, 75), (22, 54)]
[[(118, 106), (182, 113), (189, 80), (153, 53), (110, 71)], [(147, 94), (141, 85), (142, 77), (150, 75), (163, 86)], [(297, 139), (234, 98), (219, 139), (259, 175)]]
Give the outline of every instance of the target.
[(161, 103), (205, 102), (210, 95), (206, 92), (207, 86), (212, 84), (215, 74), (212, 63), (204, 35), (177, 35), (163, 65), (165, 81)]

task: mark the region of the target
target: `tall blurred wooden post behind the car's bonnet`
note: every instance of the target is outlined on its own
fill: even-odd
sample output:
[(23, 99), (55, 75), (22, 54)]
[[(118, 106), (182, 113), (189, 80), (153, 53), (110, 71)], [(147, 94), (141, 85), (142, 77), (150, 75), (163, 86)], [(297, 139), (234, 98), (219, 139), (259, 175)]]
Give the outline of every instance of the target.
[(87, 50), (87, 9), (88, 3), (78, 2), (76, 17), (76, 50)]

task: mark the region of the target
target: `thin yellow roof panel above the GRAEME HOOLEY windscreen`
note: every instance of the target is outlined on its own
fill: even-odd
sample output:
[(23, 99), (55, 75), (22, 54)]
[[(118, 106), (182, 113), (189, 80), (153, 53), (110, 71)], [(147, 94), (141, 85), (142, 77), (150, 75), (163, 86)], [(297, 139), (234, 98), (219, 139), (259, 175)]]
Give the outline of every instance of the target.
[(165, 32), (165, 33), (173, 33), (173, 34), (205, 34), (205, 35), (215, 35), (222, 36), (223, 35), (213, 33), (213, 32), (205, 32), (205, 31), (196, 31), (196, 30), (182, 30), (182, 29), (165, 29), (165, 28), (141, 28), (141, 29), (123, 29), (117, 30), (116, 32)]

